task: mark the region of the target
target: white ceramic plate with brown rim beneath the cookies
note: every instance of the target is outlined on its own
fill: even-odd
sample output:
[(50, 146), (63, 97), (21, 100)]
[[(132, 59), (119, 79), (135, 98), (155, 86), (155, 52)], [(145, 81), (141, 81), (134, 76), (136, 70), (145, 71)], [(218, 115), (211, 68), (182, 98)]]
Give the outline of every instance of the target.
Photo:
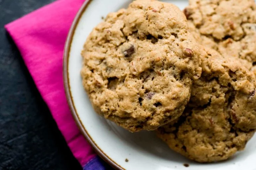
[[(74, 118), (82, 133), (95, 151), (116, 169), (132, 170), (255, 170), (256, 136), (245, 151), (231, 159), (211, 164), (192, 162), (170, 150), (154, 132), (130, 133), (114, 123), (98, 116), (83, 89), (80, 77), (83, 44), (102, 17), (109, 12), (126, 8), (132, 0), (86, 1), (78, 12), (70, 30), (64, 55), (64, 81), (67, 98)], [(188, 5), (187, 0), (165, 0), (180, 9)], [(125, 160), (129, 161), (126, 162)], [(185, 167), (188, 163), (189, 167)]]

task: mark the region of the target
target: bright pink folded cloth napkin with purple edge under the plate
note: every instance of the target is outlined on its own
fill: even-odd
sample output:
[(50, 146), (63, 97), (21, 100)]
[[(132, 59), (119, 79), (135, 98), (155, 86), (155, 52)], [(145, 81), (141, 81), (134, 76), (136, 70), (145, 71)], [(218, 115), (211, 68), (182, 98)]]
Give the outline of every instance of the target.
[(104, 166), (70, 113), (62, 76), (65, 40), (84, 0), (57, 0), (5, 25), (69, 148), (84, 170)]

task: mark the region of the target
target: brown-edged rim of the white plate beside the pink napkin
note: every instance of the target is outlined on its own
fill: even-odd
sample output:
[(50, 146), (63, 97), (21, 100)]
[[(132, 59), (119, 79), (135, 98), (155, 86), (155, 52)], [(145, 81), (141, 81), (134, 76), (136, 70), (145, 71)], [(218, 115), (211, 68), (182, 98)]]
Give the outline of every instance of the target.
[(85, 0), (80, 7), (79, 11), (77, 12), (71, 27), (69, 29), (65, 45), (64, 45), (64, 53), (63, 53), (63, 83), (64, 83), (64, 90), (65, 90), (65, 95), (67, 98), (68, 106), (71, 111), (71, 114), (73, 116), (73, 119), (79, 128), (80, 132), (82, 135), (85, 137), (87, 142), (91, 145), (93, 150), (99, 155), (104, 161), (106, 161), (109, 165), (111, 165), (113, 168), (117, 170), (124, 170), (125, 168), (121, 167), (119, 164), (117, 164), (114, 160), (112, 160), (106, 153), (103, 152), (103, 150), (94, 142), (90, 134), (87, 132), (86, 128), (82, 124), (78, 113), (77, 109), (74, 105), (73, 102), (73, 97), (72, 97), (72, 92), (70, 90), (70, 84), (69, 84), (69, 68), (68, 68), (68, 63), (69, 63), (69, 54), (70, 54), (70, 49), (71, 49), (71, 44), (73, 42), (73, 36), (75, 33), (75, 30), (77, 28), (77, 25), (83, 15), (83, 13), (86, 11), (87, 7), (93, 0)]

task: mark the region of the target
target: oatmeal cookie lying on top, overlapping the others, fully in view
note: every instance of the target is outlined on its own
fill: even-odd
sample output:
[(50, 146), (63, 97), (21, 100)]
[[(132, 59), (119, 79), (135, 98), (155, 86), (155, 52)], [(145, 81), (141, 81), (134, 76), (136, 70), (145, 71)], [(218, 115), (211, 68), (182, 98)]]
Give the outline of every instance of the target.
[(176, 6), (133, 1), (87, 38), (83, 86), (105, 118), (132, 132), (155, 130), (182, 114), (201, 74), (199, 55)]

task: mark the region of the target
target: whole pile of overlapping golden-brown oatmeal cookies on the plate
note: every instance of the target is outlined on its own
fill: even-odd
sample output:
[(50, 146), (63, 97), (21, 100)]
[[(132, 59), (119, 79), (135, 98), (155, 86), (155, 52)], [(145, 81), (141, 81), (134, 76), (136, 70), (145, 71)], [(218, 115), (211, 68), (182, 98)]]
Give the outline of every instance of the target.
[[(230, 8), (230, 9), (227, 9)], [(225, 160), (256, 130), (254, 0), (136, 0), (87, 38), (81, 71), (95, 111), (156, 130), (198, 162)]]

